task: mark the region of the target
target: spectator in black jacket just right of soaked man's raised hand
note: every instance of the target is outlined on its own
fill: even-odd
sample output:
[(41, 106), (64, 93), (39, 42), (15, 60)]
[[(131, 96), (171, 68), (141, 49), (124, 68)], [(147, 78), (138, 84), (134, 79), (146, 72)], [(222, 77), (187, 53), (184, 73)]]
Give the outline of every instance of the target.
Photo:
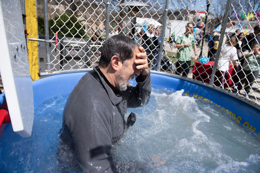
[(148, 67), (150, 68), (151, 61), (155, 58), (156, 47), (158, 45), (157, 37), (155, 36), (156, 27), (154, 25), (149, 26), (147, 31), (142, 35), (142, 46), (147, 54)]

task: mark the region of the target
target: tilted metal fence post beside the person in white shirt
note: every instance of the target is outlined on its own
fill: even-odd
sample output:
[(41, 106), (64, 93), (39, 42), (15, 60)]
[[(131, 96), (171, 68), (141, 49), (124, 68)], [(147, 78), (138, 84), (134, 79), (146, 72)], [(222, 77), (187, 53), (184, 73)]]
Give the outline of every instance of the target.
[(231, 5), (231, 0), (228, 0), (227, 3), (226, 3), (226, 11), (225, 11), (225, 14), (224, 14), (223, 26), (222, 26), (221, 33), (220, 33), (218, 49), (217, 49), (217, 52), (216, 52), (216, 56), (215, 56), (216, 58), (215, 58), (215, 62), (214, 62), (214, 65), (213, 65), (213, 70), (212, 70), (212, 73), (211, 73), (209, 85), (212, 85), (213, 82), (214, 82), (216, 69), (217, 69), (217, 65), (218, 65), (218, 59), (219, 59), (219, 56), (220, 56), (220, 50), (222, 48), (222, 42), (223, 42), (225, 31), (226, 31), (227, 19), (229, 17), (229, 12), (230, 12), (229, 7), (230, 7), (230, 5)]

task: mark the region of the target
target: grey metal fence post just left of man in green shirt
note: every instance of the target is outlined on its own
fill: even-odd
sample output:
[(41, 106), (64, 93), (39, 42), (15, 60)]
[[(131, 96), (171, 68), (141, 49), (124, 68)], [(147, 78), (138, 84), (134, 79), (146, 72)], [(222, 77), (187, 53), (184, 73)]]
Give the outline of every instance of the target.
[(159, 49), (157, 72), (160, 72), (160, 69), (161, 69), (161, 56), (162, 56), (162, 49), (164, 47), (164, 38), (165, 38), (165, 29), (166, 29), (168, 7), (169, 7), (169, 0), (166, 0), (165, 9), (164, 9), (164, 23), (163, 23), (162, 31), (161, 31), (161, 43), (160, 43), (160, 49)]

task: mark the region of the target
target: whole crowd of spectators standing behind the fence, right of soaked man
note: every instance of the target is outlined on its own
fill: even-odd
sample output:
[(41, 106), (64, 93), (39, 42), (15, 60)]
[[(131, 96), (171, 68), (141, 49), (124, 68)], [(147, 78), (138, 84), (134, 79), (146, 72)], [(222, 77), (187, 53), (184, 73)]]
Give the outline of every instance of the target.
[[(197, 46), (200, 46), (199, 42), (202, 39), (207, 39), (208, 53), (207, 57), (209, 61), (215, 61), (216, 51), (220, 41), (220, 32), (213, 30), (213, 32), (199, 33), (200, 37), (195, 39), (192, 33), (193, 25), (188, 23), (186, 25), (185, 33), (176, 37), (175, 33), (171, 33), (168, 39), (168, 46), (170, 50), (177, 49), (175, 54), (176, 72), (175, 74), (187, 77), (190, 72), (191, 61), (197, 61)], [(218, 66), (214, 79), (214, 85), (224, 88), (224, 84), (231, 74), (228, 73), (230, 65), (234, 68), (236, 75), (232, 78), (234, 92), (240, 93), (242, 89), (245, 91), (245, 96), (248, 96), (250, 92), (250, 86), (257, 79), (259, 72), (260, 56), (259, 56), (259, 43), (260, 43), (260, 27), (259, 25), (254, 27), (254, 32), (246, 34), (242, 30), (237, 29), (235, 33), (225, 33), (223, 37), (222, 47), (220, 55), (218, 57)], [(207, 38), (206, 38), (207, 37)], [(146, 50), (148, 57), (148, 67), (152, 70), (156, 70), (160, 66), (158, 65), (159, 48), (161, 44), (161, 28), (155, 25), (150, 25), (148, 29), (142, 33), (136, 33), (134, 36), (135, 41), (138, 42)], [(199, 39), (198, 39), (199, 38)], [(167, 43), (163, 42), (164, 55), (165, 47)], [(203, 46), (200, 46), (202, 49)], [(191, 50), (194, 50), (194, 54), (191, 54)]]

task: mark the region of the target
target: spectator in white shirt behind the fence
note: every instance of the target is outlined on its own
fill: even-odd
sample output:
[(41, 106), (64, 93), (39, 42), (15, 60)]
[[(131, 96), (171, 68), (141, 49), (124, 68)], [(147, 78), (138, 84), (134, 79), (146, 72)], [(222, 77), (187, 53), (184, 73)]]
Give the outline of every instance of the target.
[[(238, 66), (237, 49), (234, 47), (237, 43), (236, 37), (232, 37), (227, 44), (224, 44), (220, 50), (217, 71), (215, 74), (214, 85), (224, 89), (224, 83), (228, 78), (229, 66), (232, 63)], [(233, 67), (232, 67), (233, 68)]]

